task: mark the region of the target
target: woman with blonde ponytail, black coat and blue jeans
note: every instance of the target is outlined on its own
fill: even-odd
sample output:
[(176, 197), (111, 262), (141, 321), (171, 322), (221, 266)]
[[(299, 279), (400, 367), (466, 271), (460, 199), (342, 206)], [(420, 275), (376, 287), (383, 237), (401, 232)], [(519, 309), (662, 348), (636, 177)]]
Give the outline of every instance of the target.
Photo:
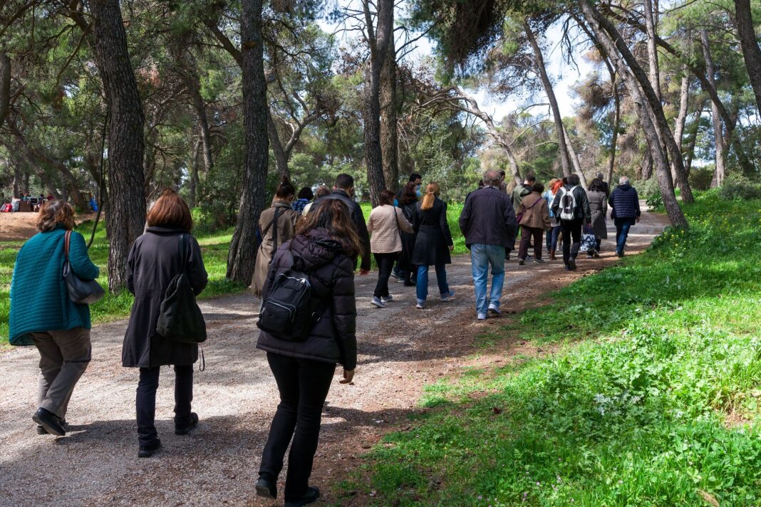
[(447, 264), (452, 263), (451, 252), (454, 250), (452, 234), (447, 223), (447, 203), (439, 195), (438, 183), (428, 183), (425, 195), (416, 206), (412, 223), (418, 238), (412, 252), (412, 264), (418, 267), (417, 308), (425, 308), (428, 299), (428, 266), (436, 269), (438, 292), (442, 301), (454, 299), (454, 290), (447, 284)]

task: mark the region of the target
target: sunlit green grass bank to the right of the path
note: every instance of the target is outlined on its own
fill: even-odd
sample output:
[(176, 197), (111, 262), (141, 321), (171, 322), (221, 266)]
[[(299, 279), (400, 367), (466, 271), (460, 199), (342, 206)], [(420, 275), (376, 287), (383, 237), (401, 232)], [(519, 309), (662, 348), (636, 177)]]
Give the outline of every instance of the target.
[(685, 211), (688, 232), (504, 329), (558, 353), (428, 386), (428, 410), (342, 490), (376, 505), (759, 505), (761, 201), (709, 192)]

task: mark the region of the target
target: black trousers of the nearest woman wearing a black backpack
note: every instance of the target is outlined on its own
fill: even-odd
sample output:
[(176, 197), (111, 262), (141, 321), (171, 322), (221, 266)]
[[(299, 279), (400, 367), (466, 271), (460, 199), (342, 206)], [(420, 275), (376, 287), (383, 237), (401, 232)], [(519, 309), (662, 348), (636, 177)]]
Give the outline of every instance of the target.
[(288, 502), (307, 493), (314, 452), (320, 439), (323, 404), (336, 365), (272, 352), (267, 353), (267, 362), (280, 391), (280, 404), (272, 418), (259, 473), (270, 474), (277, 480), (292, 437), (285, 477), (285, 501)]

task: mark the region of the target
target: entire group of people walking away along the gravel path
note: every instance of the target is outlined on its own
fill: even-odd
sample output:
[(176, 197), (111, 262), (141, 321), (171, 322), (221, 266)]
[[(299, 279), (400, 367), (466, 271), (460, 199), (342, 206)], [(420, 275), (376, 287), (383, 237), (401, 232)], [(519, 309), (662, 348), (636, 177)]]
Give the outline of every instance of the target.
[[(459, 220), (470, 249), (479, 319), (500, 312), (505, 258), (514, 247), (517, 227), (522, 235), (520, 261), (527, 258), (531, 239), (534, 260), (541, 261), (543, 232), (554, 256), (559, 227), (566, 268), (575, 269), (581, 224), (593, 223), (594, 205), (590, 203), (598, 201), (579, 188), (578, 176), (568, 177), (562, 186), (551, 182), (549, 194), (533, 177), (526, 179), (522, 190), (516, 188), (509, 194), (504, 176), (498, 172), (487, 171), (483, 183), (466, 198)], [(604, 192), (602, 188), (593, 182), (590, 192)], [(431, 182), (421, 191), (419, 175), (412, 175), (397, 195), (383, 192), (367, 223), (354, 199), (352, 176), (339, 175), (333, 191), (318, 189), (314, 201), (304, 192), (297, 199), (295, 193), (291, 182), (282, 179), (272, 207), (260, 216), (251, 288), (266, 302), (277, 280), (298, 271), (312, 290), (314, 305), (310, 309), (314, 311), (306, 337), (283, 339), (263, 330), (256, 343), (266, 352), (280, 395), (256, 492), (271, 499), (278, 496), (277, 481), (290, 444), (285, 505), (307, 505), (320, 496), (309, 478), (323, 404), (336, 365), (343, 369), (340, 383), (349, 384), (357, 364), (356, 269), (359, 267), (361, 275), (368, 274), (370, 255), (374, 256), (378, 280), (372, 304), (384, 308), (393, 300), (388, 284), (396, 263), (396, 276), (405, 286), (416, 287), (416, 306), (423, 309), (430, 266), (435, 268), (441, 300), (454, 297), (446, 272), (454, 245), (439, 185)], [(300, 199), (305, 202), (295, 206)], [(607, 202), (613, 206), (616, 250), (622, 255), (629, 227), (639, 216), (636, 191), (622, 178)], [(601, 201), (603, 220), (604, 204)], [(191, 234), (192, 215), (177, 192), (167, 190), (158, 198), (146, 225), (145, 233), (132, 245), (126, 267), (126, 287), (135, 300), (122, 349), (123, 366), (139, 369), (135, 414), (140, 458), (161, 449), (154, 425), (161, 366), (174, 366), (174, 433), (187, 435), (199, 423), (192, 410), (193, 365), (199, 358), (199, 346), (163, 337), (158, 320), (167, 289), (179, 274), (184, 274), (195, 295), (208, 280), (199, 243)], [(62, 274), (66, 269), (81, 280), (95, 280), (99, 269), (74, 227), (71, 205), (46, 202), (37, 220), (40, 232), (18, 252), (11, 282), (10, 342), (34, 345), (40, 353), (37, 410), (32, 417), (40, 434), (65, 436), (68, 402), (91, 360), (89, 306), (72, 301)], [(489, 271), (492, 287), (487, 295)], [(35, 289), (41, 278), (47, 290), (40, 295)]]

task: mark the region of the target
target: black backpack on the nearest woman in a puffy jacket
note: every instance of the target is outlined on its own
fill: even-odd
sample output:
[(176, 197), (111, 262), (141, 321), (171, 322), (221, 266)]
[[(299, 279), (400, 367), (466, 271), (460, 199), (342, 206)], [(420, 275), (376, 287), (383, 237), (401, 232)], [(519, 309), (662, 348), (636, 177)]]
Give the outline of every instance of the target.
[(288, 255), (291, 268), (272, 280), (256, 326), (281, 340), (304, 341), (320, 320), (323, 305), (303, 262), (298, 262), (301, 258), (294, 258), (290, 250)]

